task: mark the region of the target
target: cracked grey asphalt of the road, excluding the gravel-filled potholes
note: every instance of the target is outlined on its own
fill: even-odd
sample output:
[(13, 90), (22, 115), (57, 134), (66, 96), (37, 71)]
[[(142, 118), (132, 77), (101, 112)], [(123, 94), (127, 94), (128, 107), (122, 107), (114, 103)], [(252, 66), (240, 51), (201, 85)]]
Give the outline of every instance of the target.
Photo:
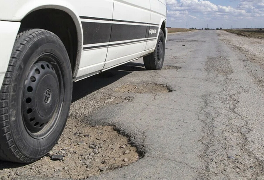
[(264, 179), (264, 69), (218, 35), (170, 34), (164, 70), (145, 71), (142, 59), (119, 67), (131, 73), (107, 88), (153, 82), (174, 91), (120, 93), (133, 100), (83, 118), (116, 126), (144, 153), (90, 179)]

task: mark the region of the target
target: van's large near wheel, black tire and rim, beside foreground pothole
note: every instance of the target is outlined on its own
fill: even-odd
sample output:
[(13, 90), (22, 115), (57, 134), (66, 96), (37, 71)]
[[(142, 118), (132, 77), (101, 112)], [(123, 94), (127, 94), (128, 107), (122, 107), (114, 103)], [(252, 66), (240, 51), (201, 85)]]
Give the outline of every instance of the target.
[(45, 156), (62, 134), (72, 99), (62, 41), (43, 29), (19, 33), (0, 95), (1, 160), (30, 163)]

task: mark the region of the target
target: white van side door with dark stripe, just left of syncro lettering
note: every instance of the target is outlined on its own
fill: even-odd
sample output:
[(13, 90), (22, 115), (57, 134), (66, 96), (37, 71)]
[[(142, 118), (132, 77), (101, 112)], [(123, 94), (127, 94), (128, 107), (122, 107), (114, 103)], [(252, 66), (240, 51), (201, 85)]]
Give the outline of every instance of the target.
[(150, 1), (113, 1), (113, 23), (104, 69), (140, 57), (148, 38)]

